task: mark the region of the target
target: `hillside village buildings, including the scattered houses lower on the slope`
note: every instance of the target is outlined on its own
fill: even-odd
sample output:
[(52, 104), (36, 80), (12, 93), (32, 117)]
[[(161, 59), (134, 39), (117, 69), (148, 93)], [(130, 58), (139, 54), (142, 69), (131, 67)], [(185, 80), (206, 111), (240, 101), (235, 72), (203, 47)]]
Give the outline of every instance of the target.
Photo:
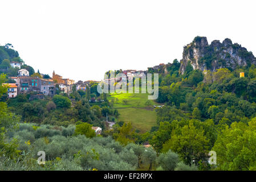
[[(163, 69), (165, 64), (157, 65), (153, 68), (148, 68), (151, 71), (160, 71)], [(86, 92), (87, 89), (90, 90), (90, 93), (94, 94), (93, 97), (90, 98), (90, 102), (101, 102), (104, 100), (101, 100), (100, 98), (96, 99), (97, 96), (99, 96), (98, 93), (95, 93), (95, 89), (91, 90), (92, 85), (96, 85), (101, 81), (107, 82), (108, 84), (111, 83), (112, 80), (115, 80), (115, 82), (119, 81), (131, 81), (133, 80), (133, 77), (136, 76), (142, 76), (143, 74), (147, 74), (148, 71), (136, 71), (134, 69), (127, 69), (122, 71), (121, 69), (119, 71), (115, 71), (115, 73), (123, 73), (123, 76), (121, 77), (115, 77), (115, 78), (105, 78), (101, 81), (96, 80), (87, 80), (87, 81), (78, 81), (75, 82), (74, 80), (71, 80), (70, 78), (63, 78), (62, 76), (55, 73), (55, 71), (52, 72), (52, 77), (50, 78), (44, 78), (44, 75), (42, 73), (34, 74), (36, 76), (33, 76), (30, 74), (30, 72), (27, 69), (24, 69), (22, 67), (22, 63), (11, 61), (10, 67), (18, 69), (18, 75), (16, 77), (9, 76), (9, 80), (11, 82), (3, 83), (3, 86), (7, 87), (7, 96), (11, 98), (17, 97), (19, 94), (30, 94), (30, 100), (35, 99), (44, 99), (45, 96), (47, 97), (53, 97), (55, 94), (71, 94), (74, 89), (76, 91), (82, 90), (83, 92)], [(154, 107), (161, 107), (161, 106), (154, 106)], [(107, 125), (109, 125), (110, 128), (115, 124), (114, 122), (108, 121), (107, 119)], [(100, 134), (102, 128), (99, 126), (93, 126), (92, 129), (95, 130), (96, 134)]]

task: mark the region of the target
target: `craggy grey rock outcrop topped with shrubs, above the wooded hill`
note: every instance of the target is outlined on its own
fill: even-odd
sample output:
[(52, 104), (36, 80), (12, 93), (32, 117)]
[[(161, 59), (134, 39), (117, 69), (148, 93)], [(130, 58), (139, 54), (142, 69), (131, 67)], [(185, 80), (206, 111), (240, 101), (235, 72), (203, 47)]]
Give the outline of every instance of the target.
[(186, 65), (192, 64), (194, 69), (215, 72), (219, 68), (235, 69), (239, 66), (256, 64), (256, 58), (252, 52), (225, 39), (222, 43), (214, 40), (210, 45), (206, 37), (197, 36), (193, 42), (184, 47), (182, 60), (180, 61), (180, 73), (185, 73)]

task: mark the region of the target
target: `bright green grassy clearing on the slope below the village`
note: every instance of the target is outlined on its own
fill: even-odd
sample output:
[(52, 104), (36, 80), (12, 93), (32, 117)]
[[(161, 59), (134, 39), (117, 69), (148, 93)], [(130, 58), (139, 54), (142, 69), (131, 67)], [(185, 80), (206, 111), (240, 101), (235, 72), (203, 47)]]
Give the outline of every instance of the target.
[[(113, 93), (108, 100), (113, 100), (113, 107), (119, 111), (119, 121), (131, 122), (141, 133), (156, 125), (156, 111), (149, 108), (159, 104), (148, 100), (148, 93)], [(149, 105), (145, 105), (147, 101)]]

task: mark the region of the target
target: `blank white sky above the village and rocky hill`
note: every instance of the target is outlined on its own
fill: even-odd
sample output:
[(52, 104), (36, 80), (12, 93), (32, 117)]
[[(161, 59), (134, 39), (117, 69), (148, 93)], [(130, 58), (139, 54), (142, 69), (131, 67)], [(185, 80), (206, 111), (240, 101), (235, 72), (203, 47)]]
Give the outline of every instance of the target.
[(196, 36), (230, 38), (256, 55), (254, 1), (0, 0), (0, 45), (35, 71), (101, 80), (182, 59)]

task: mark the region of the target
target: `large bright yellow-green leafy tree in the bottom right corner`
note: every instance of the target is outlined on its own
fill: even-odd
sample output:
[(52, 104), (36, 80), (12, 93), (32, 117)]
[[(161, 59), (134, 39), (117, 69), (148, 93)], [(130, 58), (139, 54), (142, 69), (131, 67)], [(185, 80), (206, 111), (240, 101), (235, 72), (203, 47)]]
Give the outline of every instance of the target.
[(246, 125), (233, 122), (218, 135), (212, 150), (217, 154), (218, 170), (255, 170), (256, 169), (256, 118)]

